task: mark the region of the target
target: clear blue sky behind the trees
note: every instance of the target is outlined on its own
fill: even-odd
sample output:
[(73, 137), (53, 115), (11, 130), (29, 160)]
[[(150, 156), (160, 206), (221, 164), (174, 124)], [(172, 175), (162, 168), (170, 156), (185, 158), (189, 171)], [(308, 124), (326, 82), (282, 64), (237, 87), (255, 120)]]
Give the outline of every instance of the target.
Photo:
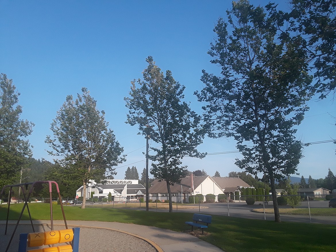
[[(278, 1), (282, 2), (282, 1)], [(251, 1), (265, 5), (267, 1)], [(218, 73), (207, 54), (215, 38), (218, 17), (225, 17), (231, 1), (8, 1), (0, 0), (0, 71), (7, 74), (23, 106), (22, 119), (35, 123), (29, 137), (34, 158), (52, 161), (45, 151), (50, 124), (66, 96), (76, 96), (87, 87), (106, 112), (106, 120), (124, 147), (127, 161), (117, 168), (124, 178), (132, 165), (140, 173), (145, 167), (145, 139), (137, 127), (125, 124), (123, 98), (130, 81), (142, 77), (145, 58), (154, 57), (165, 72), (186, 86), (191, 108), (201, 113), (193, 95), (201, 90), (202, 69)], [(286, 7), (283, 5), (282, 7)], [(331, 97), (310, 101), (310, 111), (298, 127), (303, 142), (336, 138), (336, 106)], [(156, 146), (155, 143), (151, 143)], [(336, 174), (336, 145), (313, 144), (304, 149), (300, 176), (324, 178), (330, 168)], [(207, 153), (236, 151), (233, 139), (208, 139), (199, 150)], [(204, 169), (221, 176), (241, 171), (235, 166), (239, 153), (185, 158), (191, 171)]]

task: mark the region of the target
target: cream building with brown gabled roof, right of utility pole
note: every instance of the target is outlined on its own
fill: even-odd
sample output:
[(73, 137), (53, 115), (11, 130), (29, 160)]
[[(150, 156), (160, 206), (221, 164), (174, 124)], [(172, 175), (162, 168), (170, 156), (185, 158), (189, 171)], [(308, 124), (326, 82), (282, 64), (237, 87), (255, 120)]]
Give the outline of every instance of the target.
[[(188, 197), (191, 195), (207, 195), (207, 194), (226, 194), (228, 196), (234, 195), (237, 191), (239, 195), (242, 187), (251, 187), (240, 178), (231, 177), (211, 177), (207, 176), (193, 176), (194, 190), (192, 190), (192, 178), (186, 176), (182, 178), (180, 183), (175, 183), (170, 186), (172, 193), (172, 201), (174, 202), (189, 202)], [(158, 179), (152, 182), (149, 188), (149, 197), (152, 200), (167, 200), (168, 190), (166, 181), (159, 181)]]

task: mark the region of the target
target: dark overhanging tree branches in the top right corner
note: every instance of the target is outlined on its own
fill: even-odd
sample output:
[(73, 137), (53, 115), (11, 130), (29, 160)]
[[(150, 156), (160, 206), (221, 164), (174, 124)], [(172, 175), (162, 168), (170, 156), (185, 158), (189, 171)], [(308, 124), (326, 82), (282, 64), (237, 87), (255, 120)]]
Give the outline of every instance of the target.
[(323, 99), (336, 88), (336, 1), (291, 0), (290, 3), (292, 11), (283, 16), (290, 21), (291, 31), (299, 33), (315, 88)]

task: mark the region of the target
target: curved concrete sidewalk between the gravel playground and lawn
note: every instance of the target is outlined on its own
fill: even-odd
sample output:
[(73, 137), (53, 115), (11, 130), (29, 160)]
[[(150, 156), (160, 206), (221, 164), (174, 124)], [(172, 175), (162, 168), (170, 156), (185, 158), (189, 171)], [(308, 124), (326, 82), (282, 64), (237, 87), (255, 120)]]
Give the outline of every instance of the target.
[[(3, 221), (1, 221), (3, 223)], [(11, 221), (13, 223), (13, 221)], [(20, 221), (30, 223), (30, 221)], [(50, 220), (34, 220), (34, 224), (50, 224)], [(64, 225), (64, 220), (54, 220), (54, 225)], [(167, 229), (119, 222), (67, 220), (68, 226), (103, 228), (132, 235), (150, 243), (158, 252), (223, 252), (201, 239)]]

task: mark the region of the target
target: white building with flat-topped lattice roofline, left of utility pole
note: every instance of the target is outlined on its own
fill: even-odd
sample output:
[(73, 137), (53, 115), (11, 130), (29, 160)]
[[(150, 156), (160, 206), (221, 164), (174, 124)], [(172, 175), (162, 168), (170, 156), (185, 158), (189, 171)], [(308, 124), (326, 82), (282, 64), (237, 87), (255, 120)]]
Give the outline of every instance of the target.
[[(111, 193), (112, 201), (137, 200), (145, 195), (146, 190), (138, 181), (137, 179), (106, 179), (105, 184), (90, 183), (86, 187), (86, 198), (90, 198), (93, 192), (94, 198), (108, 198)], [(77, 189), (76, 195), (83, 196), (83, 186)]]

